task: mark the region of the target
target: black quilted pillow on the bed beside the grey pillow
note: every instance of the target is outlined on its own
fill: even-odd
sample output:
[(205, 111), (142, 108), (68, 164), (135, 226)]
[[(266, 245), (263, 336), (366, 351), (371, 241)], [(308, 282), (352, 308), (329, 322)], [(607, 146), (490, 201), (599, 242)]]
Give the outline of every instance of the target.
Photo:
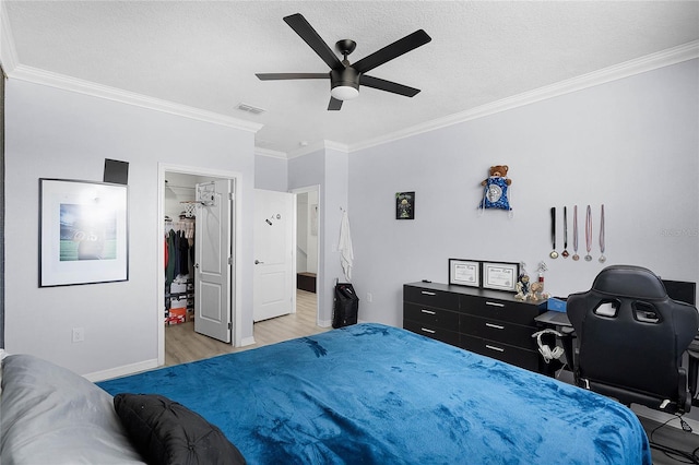
[(114, 407), (150, 464), (245, 464), (238, 449), (201, 415), (157, 394), (117, 394)]

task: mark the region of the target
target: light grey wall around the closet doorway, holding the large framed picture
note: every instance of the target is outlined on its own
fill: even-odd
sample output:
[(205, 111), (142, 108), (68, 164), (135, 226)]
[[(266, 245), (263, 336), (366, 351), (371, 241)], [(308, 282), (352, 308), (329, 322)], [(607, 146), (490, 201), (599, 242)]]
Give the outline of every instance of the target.
[[(158, 162), (241, 174), (238, 240), (251, 243), (253, 133), (16, 80), (5, 120), (5, 348), (83, 374), (156, 360)], [(105, 158), (130, 164), (129, 281), (39, 288), (38, 178), (100, 181)], [(242, 337), (252, 335), (251, 249), (239, 258)], [(83, 343), (71, 343), (75, 326)]]

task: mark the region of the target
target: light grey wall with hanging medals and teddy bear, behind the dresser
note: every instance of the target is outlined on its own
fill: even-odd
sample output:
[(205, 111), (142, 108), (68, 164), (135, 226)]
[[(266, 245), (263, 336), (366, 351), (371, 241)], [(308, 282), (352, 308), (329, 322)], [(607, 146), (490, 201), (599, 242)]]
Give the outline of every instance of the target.
[[(402, 285), (446, 283), (448, 259), (548, 265), (554, 295), (587, 290), (600, 205), (607, 265), (699, 281), (699, 61), (691, 60), (350, 155), (353, 282), (359, 319), (402, 325)], [(514, 216), (478, 215), (479, 182), (507, 164)], [(414, 220), (394, 194), (415, 191)], [(550, 260), (549, 208), (590, 204), (595, 261)], [(332, 206), (334, 208), (336, 206)], [(584, 218), (579, 218), (581, 228)], [(329, 240), (332, 240), (331, 237)], [(584, 237), (581, 236), (581, 248)], [(569, 239), (569, 249), (572, 239)]]

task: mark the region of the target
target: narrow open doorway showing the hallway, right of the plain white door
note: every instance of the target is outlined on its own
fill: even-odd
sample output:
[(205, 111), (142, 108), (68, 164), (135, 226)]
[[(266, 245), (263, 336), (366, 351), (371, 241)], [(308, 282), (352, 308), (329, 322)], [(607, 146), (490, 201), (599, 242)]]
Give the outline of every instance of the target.
[(320, 325), (318, 283), (320, 238), (320, 186), (292, 190), (296, 195), (296, 274), (297, 306), (313, 306)]

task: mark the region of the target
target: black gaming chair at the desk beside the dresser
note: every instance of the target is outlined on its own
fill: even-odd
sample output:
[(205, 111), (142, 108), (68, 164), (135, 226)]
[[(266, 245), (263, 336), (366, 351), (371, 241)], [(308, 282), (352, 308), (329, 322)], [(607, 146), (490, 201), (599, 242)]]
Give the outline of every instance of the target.
[(667, 297), (651, 271), (602, 270), (592, 289), (568, 297), (567, 313), (578, 338), (573, 372), (580, 388), (626, 405), (689, 412), (694, 393), (682, 358), (697, 335), (699, 313)]

